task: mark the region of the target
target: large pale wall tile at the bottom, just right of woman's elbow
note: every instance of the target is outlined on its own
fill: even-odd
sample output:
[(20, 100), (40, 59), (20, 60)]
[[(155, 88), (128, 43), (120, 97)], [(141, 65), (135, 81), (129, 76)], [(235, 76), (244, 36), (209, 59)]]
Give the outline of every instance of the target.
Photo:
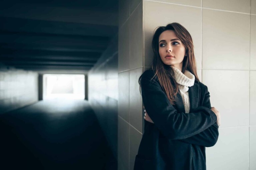
[(249, 127), (219, 128), (217, 143), (206, 147), (207, 170), (248, 170), (248, 145)]

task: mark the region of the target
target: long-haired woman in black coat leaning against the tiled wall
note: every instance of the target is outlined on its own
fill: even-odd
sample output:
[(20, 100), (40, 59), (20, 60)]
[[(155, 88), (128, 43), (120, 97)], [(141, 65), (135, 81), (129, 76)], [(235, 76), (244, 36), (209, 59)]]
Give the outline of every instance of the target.
[(155, 31), (152, 48), (151, 69), (139, 78), (146, 121), (134, 169), (205, 170), (220, 113), (198, 79), (192, 38), (171, 23)]

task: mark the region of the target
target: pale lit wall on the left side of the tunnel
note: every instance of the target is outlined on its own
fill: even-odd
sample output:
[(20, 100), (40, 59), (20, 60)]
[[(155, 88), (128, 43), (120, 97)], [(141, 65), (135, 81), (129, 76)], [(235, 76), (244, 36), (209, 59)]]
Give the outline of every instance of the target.
[(38, 74), (0, 63), (0, 114), (37, 101)]

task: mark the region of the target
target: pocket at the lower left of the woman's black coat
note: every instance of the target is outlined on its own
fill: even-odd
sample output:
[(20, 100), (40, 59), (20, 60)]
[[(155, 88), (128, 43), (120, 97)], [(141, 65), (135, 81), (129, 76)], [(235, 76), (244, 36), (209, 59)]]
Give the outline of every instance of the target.
[(134, 162), (134, 170), (154, 170), (153, 159), (145, 159), (136, 155)]

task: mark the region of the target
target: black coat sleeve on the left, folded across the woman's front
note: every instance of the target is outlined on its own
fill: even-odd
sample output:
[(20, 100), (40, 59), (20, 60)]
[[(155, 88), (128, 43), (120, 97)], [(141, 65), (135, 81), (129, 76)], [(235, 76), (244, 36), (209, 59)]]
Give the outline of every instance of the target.
[(212, 126), (217, 117), (209, 108), (198, 107), (193, 113), (178, 113), (161, 85), (147, 70), (141, 77), (142, 100), (147, 114), (160, 132), (169, 139), (185, 139)]

